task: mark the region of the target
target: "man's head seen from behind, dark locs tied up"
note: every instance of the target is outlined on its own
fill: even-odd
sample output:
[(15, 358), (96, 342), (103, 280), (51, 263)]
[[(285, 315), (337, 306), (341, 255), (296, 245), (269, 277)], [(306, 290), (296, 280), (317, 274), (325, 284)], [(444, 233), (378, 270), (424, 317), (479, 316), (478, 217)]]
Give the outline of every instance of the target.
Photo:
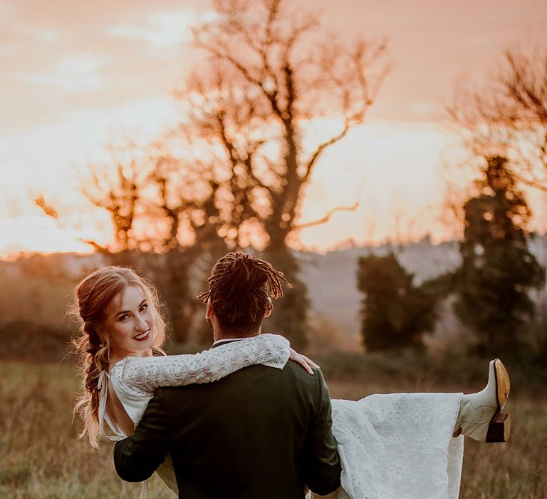
[(270, 297), (283, 296), (281, 283), (291, 285), (283, 272), (243, 252), (225, 254), (208, 280), (209, 291), (198, 296), (207, 304), (206, 318), (215, 334), (232, 337), (258, 334), (273, 307)]

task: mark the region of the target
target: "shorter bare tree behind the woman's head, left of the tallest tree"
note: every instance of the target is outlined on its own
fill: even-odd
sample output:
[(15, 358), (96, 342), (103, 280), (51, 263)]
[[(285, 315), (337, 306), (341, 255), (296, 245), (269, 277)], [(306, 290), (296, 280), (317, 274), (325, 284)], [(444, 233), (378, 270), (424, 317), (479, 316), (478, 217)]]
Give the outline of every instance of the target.
[(114, 242), (86, 242), (106, 262), (130, 264), (152, 279), (169, 304), (174, 338), (187, 341), (199, 310), (194, 283), (202, 276), (196, 263), (204, 252), (215, 250), (218, 257), (226, 249), (210, 223), (219, 185), (155, 144), (139, 151), (130, 144), (124, 152), (125, 158), (113, 156), (110, 165), (94, 165), (93, 186), (84, 189), (109, 213)]

